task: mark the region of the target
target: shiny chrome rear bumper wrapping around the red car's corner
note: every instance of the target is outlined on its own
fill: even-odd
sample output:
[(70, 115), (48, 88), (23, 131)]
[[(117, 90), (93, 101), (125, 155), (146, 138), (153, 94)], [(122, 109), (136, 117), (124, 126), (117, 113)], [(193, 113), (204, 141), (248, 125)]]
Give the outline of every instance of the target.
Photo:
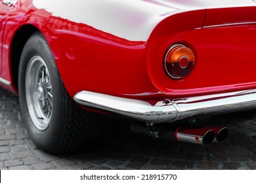
[(107, 110), (143, 122), (161, 123), (256, 108), (256, 90), (165, 99), (154, 106), (145, 101), (87, 91), (75, 94), (74, 100), (87, 107)]

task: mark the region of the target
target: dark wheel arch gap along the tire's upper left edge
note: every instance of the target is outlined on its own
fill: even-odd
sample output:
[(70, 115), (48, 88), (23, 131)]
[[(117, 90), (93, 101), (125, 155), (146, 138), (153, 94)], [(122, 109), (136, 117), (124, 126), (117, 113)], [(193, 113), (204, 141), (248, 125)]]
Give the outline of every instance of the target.
[(16, 91), (18, 92), (18, 67), (20, 65), (20, 56), (24, 45), (30, 38), (30, 36), (39, 31), (37, 27), (31, 24), (26, 24), (20, 27), (11, 42), (10, 62), (11, 62), (11, 78), (12, 83)]

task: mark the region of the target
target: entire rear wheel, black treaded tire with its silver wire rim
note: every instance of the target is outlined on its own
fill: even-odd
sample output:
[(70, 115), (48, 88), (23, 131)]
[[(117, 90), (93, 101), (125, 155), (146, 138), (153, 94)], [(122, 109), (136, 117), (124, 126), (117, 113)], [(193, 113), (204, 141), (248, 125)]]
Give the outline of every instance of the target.
[[(38, 59), (38, 61), (33, 62), (32, 59)], [(31, 79), (32, 76), (37, 76), (37, 73), (33, 71), (34, 68), (29, 68), (32, 68), (37, 62), (40, 63), (40, 61), (45, 65), (38, 66), (38, 80), (33, 80)], [(37, 65), (35, 66), (37, 67)], [(48, 77), (49, 80), (43, 75), (46, 75), (45, 77)], [(34, 82), (38, 82), (37, 84), (41, 85), (43, 90), (37, 90), (39, 92), (35, 92), (36, 97), (30, 97), (32, 96), (30, 92), (33, 90)], [(32, 84), (31, 89), (28, 84)], [(36, 87), (39, 88), (39, 86), (34, 88)], [(38, 148), (51, 154), (83, 148), (93, 129), (95, 116), (79, 107), (68, 95), (58, 73), (51, 49), (39, 32), (34, 33), (28, 39), (22, 51), (18, 72), (18, 92), (22, 118), (30, 138)], [(30, 101), (28, 101), (28, 98)], [(28, 103), (32, 106), (30, 110)], [(34, 106), (31, 105), (33, 103), (39, 104), (36, 105), (37, 109), (43, 108), (41, 109), (43, 113), (33, 110)], [(45, 108), (47, 109), (45, 110)], [(39, 117), (39, 114), (43, 114), (43, 117)], [(39, 120), (36, 120), (36, 117)]]

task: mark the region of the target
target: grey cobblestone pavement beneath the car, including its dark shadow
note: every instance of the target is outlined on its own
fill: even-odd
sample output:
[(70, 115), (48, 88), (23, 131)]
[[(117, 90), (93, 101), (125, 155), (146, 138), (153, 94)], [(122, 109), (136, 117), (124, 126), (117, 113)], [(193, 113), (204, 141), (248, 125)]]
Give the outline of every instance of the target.
[(131, 133), (127, 120), (100, 120), (104, 130), (87, 150), (46, 154), (28, 136), (18, 97), (0, 89), (0, 169), (256, 169), (256, 110), (200, 118), (230, 129), (226, 141), (207, 146), (152, 141)]

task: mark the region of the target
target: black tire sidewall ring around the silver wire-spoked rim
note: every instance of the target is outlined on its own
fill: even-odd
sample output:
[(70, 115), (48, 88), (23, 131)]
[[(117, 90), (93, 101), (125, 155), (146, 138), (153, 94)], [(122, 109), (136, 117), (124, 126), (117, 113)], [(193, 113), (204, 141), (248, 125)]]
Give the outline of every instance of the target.
[[(49, 126), (45, 130), (40, 130), (35, 127), (28, 110), (28, 103), (26, 100), (26, 70), (28, 63), (33, 56), (43, 58), (49, 75), (51, 77), (52, 92), (53, 92), (53, 112)], [(58, 69), (53, 58), (53, 54), (49, 45), (40, 33), (33, 34), (26, 42), (22, 55), (20, 58), (20, 67), (18, 72), (18, 91), (20, 95), (20, 106), (22, 110), (22, 117), (28, 129), (33, 142), (43, 150), (51, 149), (55, 142), (58, 141), (58, 134), (60, 133), (61, 115), (62, 115), (62, 91), (61, 80), (58, 74)]]

